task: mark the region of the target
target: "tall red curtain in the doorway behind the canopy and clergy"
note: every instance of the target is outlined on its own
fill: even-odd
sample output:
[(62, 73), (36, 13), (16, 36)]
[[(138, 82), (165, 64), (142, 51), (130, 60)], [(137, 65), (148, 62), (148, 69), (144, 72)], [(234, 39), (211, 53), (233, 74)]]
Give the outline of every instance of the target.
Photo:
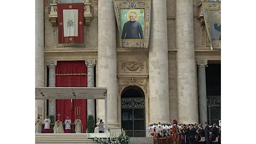
[[(56, 87), (87, 87), (87, 68), (85, 61), (58, 61), (56, 67)], [(58, 116), (60, 114), (60, 116)], [(56, 100), (56, 120), (64, 122), (69, 116), (72, 123), (80, 114), (83, 132), (87, 127), (87, 100)]]

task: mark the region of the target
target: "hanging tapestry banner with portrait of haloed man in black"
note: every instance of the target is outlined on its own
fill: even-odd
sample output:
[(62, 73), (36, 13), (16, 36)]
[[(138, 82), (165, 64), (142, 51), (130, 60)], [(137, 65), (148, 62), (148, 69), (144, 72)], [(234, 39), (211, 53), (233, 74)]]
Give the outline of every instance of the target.
[(148, 48), (151, 0), (114, 1), (121, 48)]

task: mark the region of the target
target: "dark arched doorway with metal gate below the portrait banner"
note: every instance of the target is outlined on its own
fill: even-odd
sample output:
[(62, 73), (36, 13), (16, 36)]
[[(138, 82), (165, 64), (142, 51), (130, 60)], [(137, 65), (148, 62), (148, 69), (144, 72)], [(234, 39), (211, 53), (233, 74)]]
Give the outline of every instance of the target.
[(130, 137), (145, 137), (145, 95), (138, 86), (121, 94), (121, 126)]

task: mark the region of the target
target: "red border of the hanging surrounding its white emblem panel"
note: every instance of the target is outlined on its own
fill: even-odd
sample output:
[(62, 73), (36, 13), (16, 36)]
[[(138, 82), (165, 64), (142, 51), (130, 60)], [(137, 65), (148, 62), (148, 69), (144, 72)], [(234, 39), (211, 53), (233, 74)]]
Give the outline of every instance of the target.
[[(64, 37), (63, 9), (78, 9), (78, 37)], [(83, 3), (65, 3), (57, 5), (58, 43), (83, 43)]]

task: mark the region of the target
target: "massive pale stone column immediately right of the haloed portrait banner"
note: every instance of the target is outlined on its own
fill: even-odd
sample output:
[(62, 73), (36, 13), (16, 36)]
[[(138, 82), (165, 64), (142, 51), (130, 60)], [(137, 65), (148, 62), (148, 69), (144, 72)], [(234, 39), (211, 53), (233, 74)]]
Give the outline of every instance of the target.
[(170, 122), (166, 0), (152, 1), (149, 47), (149, 123)]

